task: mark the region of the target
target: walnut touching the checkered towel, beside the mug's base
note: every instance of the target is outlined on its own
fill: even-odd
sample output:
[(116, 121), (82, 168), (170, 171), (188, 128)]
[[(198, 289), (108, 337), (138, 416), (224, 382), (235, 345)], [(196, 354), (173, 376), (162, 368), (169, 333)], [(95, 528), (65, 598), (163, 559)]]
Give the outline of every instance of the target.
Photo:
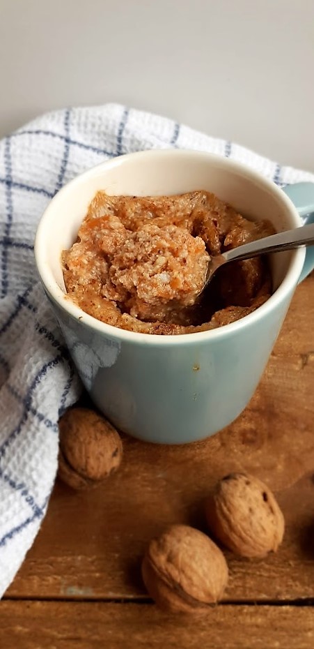
[(74, 489), (100, 484), (120, 465), (122, 442), (106, 419), (72, 408), (59, 420), (58, 477)]

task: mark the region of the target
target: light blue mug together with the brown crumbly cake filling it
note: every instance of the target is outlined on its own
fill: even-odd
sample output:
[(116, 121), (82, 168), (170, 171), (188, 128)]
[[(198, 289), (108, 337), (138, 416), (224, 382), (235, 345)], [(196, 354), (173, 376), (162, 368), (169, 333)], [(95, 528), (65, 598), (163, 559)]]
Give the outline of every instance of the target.
[[(314, 185), (292, 191), (300, 213), (302, 202), (314, 211)], [(199, 302), (207, 262), (301, 223), (271, 181), (197, 151), (120, 156), (52, 199), (36, 235), (38, 272), (77, 371), (114, 425), (143, 440), (179, 444), (240, 415), (306, 251), (230, 264)], [(307, 272), (314, 266), (308, 252)]]

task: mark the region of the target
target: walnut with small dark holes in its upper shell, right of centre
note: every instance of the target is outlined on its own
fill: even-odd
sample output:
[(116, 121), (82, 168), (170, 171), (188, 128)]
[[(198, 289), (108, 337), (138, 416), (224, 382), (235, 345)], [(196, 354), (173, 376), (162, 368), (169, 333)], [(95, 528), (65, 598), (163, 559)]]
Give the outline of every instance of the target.
[(243, 557), (276, 552), (285, 521), (272, 491), (256, 477), (231, 473), (221, 479), (206, 505), (214, 536)]

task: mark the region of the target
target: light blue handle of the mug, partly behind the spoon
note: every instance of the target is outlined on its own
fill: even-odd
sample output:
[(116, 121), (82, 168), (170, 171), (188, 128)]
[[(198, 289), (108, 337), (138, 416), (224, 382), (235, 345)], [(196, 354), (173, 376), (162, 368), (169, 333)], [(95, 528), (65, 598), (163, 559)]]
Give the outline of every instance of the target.
[[(282, 188), (295, 204), (303, 225), (314, 223), (314, 183), (295, 183)], [(314, 269), (314, 246), (308, 246), (299, 282)]]

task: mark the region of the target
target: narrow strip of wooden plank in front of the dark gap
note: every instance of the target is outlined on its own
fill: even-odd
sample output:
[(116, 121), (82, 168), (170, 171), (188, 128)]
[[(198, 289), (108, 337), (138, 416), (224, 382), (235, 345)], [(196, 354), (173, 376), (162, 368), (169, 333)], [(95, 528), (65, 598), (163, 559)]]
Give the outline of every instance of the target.
[(0, 646), (14, 649), (313, 649), (314, 611), (217, 606), (175, 618), (150, 604), (2, 602)]

